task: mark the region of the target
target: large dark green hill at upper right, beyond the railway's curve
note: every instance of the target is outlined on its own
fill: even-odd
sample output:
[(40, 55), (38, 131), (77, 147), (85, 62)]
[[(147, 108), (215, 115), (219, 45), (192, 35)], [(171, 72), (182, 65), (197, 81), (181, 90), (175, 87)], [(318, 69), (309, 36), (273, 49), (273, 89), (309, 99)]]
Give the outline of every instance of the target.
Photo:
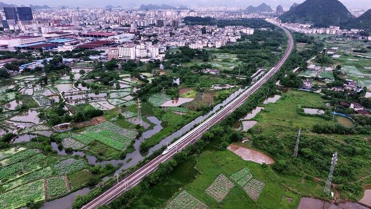
[(306, 0), (280, 16), (282, 22), (311, 23), (314, 27), (342, 26), (353, 18), (338, 0)]

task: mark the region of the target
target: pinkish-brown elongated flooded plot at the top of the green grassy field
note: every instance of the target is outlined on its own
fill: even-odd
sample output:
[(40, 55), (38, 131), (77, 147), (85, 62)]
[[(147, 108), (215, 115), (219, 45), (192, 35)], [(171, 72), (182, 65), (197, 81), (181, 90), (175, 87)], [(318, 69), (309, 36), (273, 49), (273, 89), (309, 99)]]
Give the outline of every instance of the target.
[(269, 157), (268, 155), (259, 152), (254, 149), (249, 149), (244, 146), (240, 146), (237, 144), (231, 144), (227, 147), (230, 151), (232, 151), (234, 154), (240, 156), (243, 160), (253, 161), (259, 164), (273, 164), (274, 160)]

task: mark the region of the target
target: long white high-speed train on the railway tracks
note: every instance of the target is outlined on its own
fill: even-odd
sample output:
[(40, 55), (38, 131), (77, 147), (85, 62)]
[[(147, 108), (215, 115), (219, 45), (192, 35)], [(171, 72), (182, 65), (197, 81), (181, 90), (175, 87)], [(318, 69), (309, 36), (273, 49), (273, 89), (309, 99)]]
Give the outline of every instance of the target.
[(177, 146), (188, 139), (189, 137), (199, 137), (201, 136), (204, 131), (208, 130), (212, 125), (217, 123), (219, 120), (215, 120), (218, 117), (224, 117), (231, 111), (233, 111), (233, 108), (230, 108), (231, 106), (241, 102), (246, 95), (251, 95), (254, 93), (262, 84), (265, 83), (266, 80), (268, 80), (274, 73), (276, 69), (273, 67), (271, 70), (268, 71), (258, 82), (253, 84), (248, 90), (244, 91), (240, 96), (238, 96), (236, 99), (234, 99), (232, 102), (225, 105), (221, 110), (210, 116), (208, 119), (206, 119), (204, 122), (202, 122), (200, 125), (198, 125), (193, 130), (189, 131), (186, 135), (181, 137), (180, 139), (176, 140), (174, 143), (170, 144), (163, 152), (162, 155), (167, 154), (169, 151), (177, 148)]

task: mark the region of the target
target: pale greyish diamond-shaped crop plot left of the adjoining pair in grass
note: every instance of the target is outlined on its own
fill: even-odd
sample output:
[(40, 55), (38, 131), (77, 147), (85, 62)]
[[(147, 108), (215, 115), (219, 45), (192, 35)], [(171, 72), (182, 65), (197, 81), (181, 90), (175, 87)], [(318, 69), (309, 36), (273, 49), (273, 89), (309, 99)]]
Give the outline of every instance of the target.
[(220, 174), (205, 191), (221, 202), (233, 186), (234, 184), (224, 174)]

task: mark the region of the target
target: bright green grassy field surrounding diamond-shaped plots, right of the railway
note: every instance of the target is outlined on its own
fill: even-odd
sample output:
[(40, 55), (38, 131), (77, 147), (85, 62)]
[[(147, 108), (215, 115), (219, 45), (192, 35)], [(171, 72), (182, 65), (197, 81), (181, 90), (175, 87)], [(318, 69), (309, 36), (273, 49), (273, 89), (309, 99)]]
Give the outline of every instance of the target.
[[(296, 209), (300, 197), (286, 189), (279, 182), (298, 189), (302, 194), (321, 194), (322, 192), (322, 186), (314, 181), (305, 180), (305, 183), (303, 183), (301, 178), (286, 178), (277, 175), (270, 167), (264, 169), (260, 164), (244, 161), (229, 150), (218, 151), (216, 147), (209, 148), (208, 151), (204, 151), (200, 156), (193, 157), (189, 161), (181, 164), (164, 180), (150, 187), (142, 197), (131, 205), (131, 208), (144, 209), (151, 207), (160, 209), (166, 206), (170, 209), (169, 205), (173, 206), (174, 202), (179, 204), (185, 202), (194, 203), (194, 199), (190, 198), (183, 198), (183, 201), (179, 200), (180, 197), (184, 197), (186, 191), (186, 193), (199, 201), (197, 203), (201, 202), (208, 208)], [(193, 168), (194, 166), (195, 169)], [(247, 173), (246, 168), (249, 169), (250, 174), (255, 179), (265, 183), (257, 202), (250, 198), (243, 186), (240, 186), (237, 183), (238, 181), (232, 177), (233, 174), (236, 175), (240, 171), (242, 171), (241, 175), (244, 176)], [(230, 188), (223, 200), (218, 202), (205, 190), (221, 174), (228, 181), (233, 182), (234, 186)], [(241, 178), (243, 177), (237, 178), (235, 176), (235, 179)], [(292, 198), (292, 202), (288, 202), (286, 197)]]

